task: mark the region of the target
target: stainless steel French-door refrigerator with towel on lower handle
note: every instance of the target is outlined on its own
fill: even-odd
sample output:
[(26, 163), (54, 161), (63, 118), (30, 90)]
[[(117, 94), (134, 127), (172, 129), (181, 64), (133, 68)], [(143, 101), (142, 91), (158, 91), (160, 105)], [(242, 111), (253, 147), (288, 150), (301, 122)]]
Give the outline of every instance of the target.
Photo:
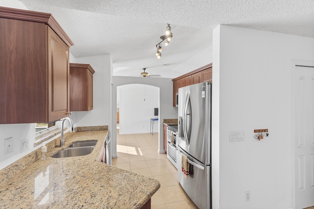
[[(211, 83), (179, 88), (178, 180), (200, 209), (211, 209)], [(181, 170), (182, 155), (189, 174)]]

